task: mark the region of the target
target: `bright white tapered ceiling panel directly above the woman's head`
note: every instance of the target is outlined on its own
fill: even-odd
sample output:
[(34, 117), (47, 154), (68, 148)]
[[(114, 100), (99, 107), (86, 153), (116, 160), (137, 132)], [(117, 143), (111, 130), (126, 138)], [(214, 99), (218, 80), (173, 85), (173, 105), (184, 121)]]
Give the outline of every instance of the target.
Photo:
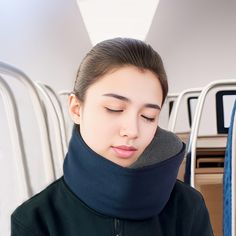
[(158, 0), (77, 0), (93, 45), (104, 39), (132, 37), (145, 40)]

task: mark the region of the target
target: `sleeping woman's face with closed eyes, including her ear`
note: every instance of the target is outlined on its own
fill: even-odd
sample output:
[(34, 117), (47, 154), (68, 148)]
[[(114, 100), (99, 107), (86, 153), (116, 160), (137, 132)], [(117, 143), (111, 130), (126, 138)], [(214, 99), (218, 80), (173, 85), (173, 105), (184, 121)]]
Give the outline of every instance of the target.
[(70, 113), (96, 153), (123, 167), (134, 163), (154, 137), (162, 89), (149, 70), (124, 66), (86, 91), (84, 103), (70, 96)]

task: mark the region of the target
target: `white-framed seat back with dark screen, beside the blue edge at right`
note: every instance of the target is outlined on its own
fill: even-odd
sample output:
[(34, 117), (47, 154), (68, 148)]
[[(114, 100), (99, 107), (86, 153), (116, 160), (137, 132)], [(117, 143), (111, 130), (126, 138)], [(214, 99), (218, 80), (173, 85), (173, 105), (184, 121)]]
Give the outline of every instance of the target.
[(223, 233), (224, 156), (235, 99), (236, 80), (214, 81), (203, 88), (186, 151), (185, 182), (202, 193), (215, 236)]

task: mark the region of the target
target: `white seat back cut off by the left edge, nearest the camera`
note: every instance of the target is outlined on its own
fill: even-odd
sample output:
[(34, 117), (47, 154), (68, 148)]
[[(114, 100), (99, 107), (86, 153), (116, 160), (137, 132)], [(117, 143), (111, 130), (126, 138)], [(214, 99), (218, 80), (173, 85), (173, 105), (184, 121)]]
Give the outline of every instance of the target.
[[(0, 113), (2, 134), (0, 136), (2, 179), (0, 182), (0, 232), (10, 232), (9, 215), (21, 201), (30, 196), (31, 189), (27, 183), (27, 169), (24, 168), (23, 163), (25, 152), (22, 146), (23, 139), (19, 127), (16, 99), (2, 76), (0, 76)], [(16, 191), (17, 186), (18, 191)]]

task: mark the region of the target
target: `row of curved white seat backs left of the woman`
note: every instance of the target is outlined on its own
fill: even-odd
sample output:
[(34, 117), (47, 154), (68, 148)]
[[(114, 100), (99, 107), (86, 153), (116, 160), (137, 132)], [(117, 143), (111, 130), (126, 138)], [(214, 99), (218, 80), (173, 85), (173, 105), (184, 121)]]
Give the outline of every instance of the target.
[[(62, 175), (72, 123), (69, 92), (30, 79), (0, 62), (0, 232), (10, 235), (10, 214)], [(3, 194), (4, 193), (4, 194)]]

